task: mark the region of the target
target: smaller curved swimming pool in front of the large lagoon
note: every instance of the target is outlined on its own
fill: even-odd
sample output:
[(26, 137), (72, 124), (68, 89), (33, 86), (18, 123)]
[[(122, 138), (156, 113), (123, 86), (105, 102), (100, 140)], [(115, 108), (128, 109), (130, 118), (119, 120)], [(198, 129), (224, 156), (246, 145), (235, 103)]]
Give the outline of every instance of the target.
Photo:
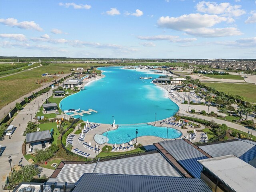
[[(166, 139), (167, 128), (166, 127), (155, 127), (148, 124), (140, 125), (121, 125), (116, 130), (104, 132), (102, 135), (108, 134), (108, 143), (110, 144), (122, 144), (127, 143), (130, 140), (136, 142), (136, 129), (138, 129), (138, 137), (141, 136), (156, 136)], [(178, 138), (182, 135), (179, 130), (174, 128), (168, 128), (168, 139)], [(138, 138), (138, 143), (140, 138)]]

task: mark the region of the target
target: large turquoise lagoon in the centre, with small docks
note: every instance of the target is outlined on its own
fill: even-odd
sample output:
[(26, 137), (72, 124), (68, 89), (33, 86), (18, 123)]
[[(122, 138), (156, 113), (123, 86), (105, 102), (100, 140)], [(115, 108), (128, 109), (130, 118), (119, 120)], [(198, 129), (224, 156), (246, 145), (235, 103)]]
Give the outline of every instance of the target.
[(151, 83), (152, 79), (140, 77), (159, 74), (146, 74), (137, 70), (125, 70), (120, 67), (98, 68), (104, 71), (105, 78), (90, 82), (84, 90), (64, 98), (62, 110), (89, 108), (98, 111), (84, 114), (83, 120), (112, 124), (138, 124), (154, 122), (173, 116), (178, 106), (172, 102), (163, 89)]

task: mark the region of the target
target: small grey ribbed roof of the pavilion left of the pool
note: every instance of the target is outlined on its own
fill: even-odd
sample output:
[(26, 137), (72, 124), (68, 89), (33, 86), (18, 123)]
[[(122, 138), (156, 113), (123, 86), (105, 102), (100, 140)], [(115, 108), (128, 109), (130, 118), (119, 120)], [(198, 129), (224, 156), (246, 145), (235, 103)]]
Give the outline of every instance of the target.
[(52, 139), (52, 135), (50, 134), (49, 130), (26, 134), (26, 143), (33, 143), (50, 139)]

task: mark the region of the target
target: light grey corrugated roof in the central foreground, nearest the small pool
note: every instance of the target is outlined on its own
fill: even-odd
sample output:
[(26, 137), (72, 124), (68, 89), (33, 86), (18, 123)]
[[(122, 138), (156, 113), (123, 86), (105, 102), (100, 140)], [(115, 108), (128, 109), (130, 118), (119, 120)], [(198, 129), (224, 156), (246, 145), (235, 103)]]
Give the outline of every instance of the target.
[[(82, 174), (92, 173), (95, 165), (65, 164), (56, 178), (58, 182), (76, 182)], [(95, 173), (182, 177), (160, 153), (99, 162)]]

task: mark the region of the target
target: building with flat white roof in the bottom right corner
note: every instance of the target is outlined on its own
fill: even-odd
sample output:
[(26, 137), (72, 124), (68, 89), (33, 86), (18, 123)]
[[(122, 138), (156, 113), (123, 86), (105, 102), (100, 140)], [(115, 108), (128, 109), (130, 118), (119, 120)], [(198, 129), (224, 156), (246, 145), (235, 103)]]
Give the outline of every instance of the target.
[(234, 155), (204, 159), (199, 162), (204, 166), (202, 174), (210, 178), (214, 175), (212, 182), (219, 188), (224, 188), (224, 191), (253, 192), (256, 189), (256, 168)]

